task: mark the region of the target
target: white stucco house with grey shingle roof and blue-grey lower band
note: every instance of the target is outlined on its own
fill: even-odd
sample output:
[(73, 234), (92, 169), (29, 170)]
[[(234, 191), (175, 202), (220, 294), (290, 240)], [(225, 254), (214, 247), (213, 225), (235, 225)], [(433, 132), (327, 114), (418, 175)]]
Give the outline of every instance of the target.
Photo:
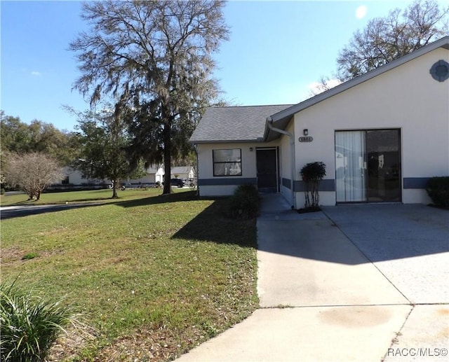
[(253, 183), (299, 209), (300, 169), (321, 161), (323, 205), (430, 202), (449, 176), (449, 36), (299, 104), (210, 108), (190, 142), (200, 196)]

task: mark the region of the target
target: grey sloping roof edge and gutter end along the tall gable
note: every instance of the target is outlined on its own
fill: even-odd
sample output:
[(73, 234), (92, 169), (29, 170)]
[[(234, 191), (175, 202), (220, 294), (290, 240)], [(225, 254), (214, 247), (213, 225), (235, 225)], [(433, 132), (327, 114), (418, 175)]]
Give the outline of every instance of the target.
[[(360, 83), (366, 82), (366, 81), (370, 80), (371, 78), (374, 78), (375, 76), (384, 74), (386, 71), (389, 71), (391, 69), (399, 67), (402, 64), (405, 64), (406, 62), (410, 62), (410, 60), (414, 60), (417, 57), (420, 57), (424, 54), (430, 53), (431, 51), (433, 51), (437, 48), (444, 48), (444, 49), (449, 50), (449, 36), (445, 36), (437, 41), (434, 41), (434, 43), (430, 43), (427, 46), (423, 46), (422, 48), (415, 50), (413, 53), (404, 55), (403, 57), (393, 60), (392, 62), (389, 62), (388, 64), (382, 65), (382, 67), (373, 69), (372, 71), (369, 71), (366, 74), (358, 76), (357, 78), (353, 78), (347, 82), (337, 85), (335, 88), (326, 90), (326, 92), (320, 93), (319, 95), (316, 95), (315, 97), (311, 97), (311, 98), (305, 100), (304, 102), (295, 104), (294, 106), (291, 106), (288, 109), (279, 111), (278, 113), (273, 114), (271, 117), (269, 117), (269, 120), (272, 120), (272, 123), (276, 128), (284, 129), (288, 125), (290, 118), (295, 113), (298, 113), (298, 112), (302, 111), (303, 109), (308, 108), (309, 106), (313, 106), (314, 104), (322, 102), (325, 99), (333, 97), (334, 95), (338, 95), (341, 92), (348, 90), (349, 88), (352, 88)], [(268, 122), (268, 120), (267, 120), (267, 122)], [(276, 136), (279, 136), (279, 134), (277, 134)], [(264, 133), (264, 139), (272, 140), (272, 139), (276, 138), (276, 136), (274, 135), (274, 132), (270, 131), (267, 126), (265, 129), (265, 133)]]

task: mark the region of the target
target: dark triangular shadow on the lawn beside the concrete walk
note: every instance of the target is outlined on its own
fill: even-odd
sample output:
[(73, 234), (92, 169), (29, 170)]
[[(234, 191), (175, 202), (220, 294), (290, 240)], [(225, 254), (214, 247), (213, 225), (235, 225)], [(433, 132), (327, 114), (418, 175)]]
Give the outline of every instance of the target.
[(215, 200), (178, 230), (172, 238), (257, 247), (256, 220), (229, 218), (227, 216), (228, 202), (226, 199)]

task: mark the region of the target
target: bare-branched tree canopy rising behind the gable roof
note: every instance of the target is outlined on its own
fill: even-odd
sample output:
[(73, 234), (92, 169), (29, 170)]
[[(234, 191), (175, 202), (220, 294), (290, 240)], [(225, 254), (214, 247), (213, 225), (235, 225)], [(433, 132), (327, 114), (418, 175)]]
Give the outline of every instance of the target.
[[(337, 58), (337, 78), (347, 81), (398, 59), (449, 34), (449, 6), (417, 0), (358, 30)], [(323, 82), (325, 83), (325, 82)]]

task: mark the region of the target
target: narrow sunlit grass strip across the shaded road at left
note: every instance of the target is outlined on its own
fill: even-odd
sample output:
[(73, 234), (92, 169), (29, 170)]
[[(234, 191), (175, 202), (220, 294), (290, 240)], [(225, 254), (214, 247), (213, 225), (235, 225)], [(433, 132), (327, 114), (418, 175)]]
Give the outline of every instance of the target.
[[(179, 193), (187, 191), (183, 188), (173, 188), (173, 193)], [(135, 200), (145, 196), (161, 195), (162, 188), (135, 188), (118, 190), (119, 200)], [(43, 193), (41, 200), (28, 200), (28, 196), (25, 194), (17, 195), (1, 195), (1, 206), (12, 205), (43, 205), (43, 204), (65, 204), (66, 202), (116, 202), (111, 199), (112, 190), (81, 190), (81, 191), (67, 191), (63, 193)]]

